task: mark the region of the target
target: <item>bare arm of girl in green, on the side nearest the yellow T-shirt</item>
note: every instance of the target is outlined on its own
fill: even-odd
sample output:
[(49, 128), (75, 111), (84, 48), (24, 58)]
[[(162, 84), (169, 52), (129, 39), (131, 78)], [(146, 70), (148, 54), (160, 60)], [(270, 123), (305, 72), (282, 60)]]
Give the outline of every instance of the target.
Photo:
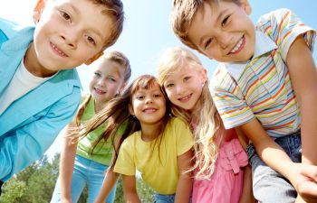
[(101, 190), (94, 203), (104, 203), (106, 201), (111, 189), (116, 184), (118, 178), (118, 173), (111, 170), (106, 171), (106, 176), (104, 177), (104, 180), (102, 182)]

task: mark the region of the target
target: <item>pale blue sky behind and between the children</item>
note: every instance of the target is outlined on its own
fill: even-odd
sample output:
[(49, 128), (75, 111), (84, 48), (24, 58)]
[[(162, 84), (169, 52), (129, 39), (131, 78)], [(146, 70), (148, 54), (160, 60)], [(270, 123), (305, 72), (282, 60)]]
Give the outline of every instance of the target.
[[(168, 47), (182, 46), (172, 32), (168, 16), (172, 0), (122, 0), (126, 13), (124, 30), (118, 42), (110, 50), (122, 51), (130, 59), (132, 78), (141, 74), (157, 73), (157, 62), (160, 54)], [(251, 0), (249, 1), (254, 22), (262, 15), (278, 8), (289, 8), (303, 19), (303, 23), (317, 29), (317, 10), (313, 0)], [(0, 17), (18, 23), (32, 23), (32, 9), (36, 0), (9, 0), (1, 4)], [(196, 52), (197, 53), (197, 52)], [(199, 55), (211, 76), (216, 62)], [(313, 58), (317, 62), (317, 53)], [(87, 91), (89, 69), (79, 68), (83, 91)], [(47, 152), (50, 156), (60, 150), (59, 136)]]

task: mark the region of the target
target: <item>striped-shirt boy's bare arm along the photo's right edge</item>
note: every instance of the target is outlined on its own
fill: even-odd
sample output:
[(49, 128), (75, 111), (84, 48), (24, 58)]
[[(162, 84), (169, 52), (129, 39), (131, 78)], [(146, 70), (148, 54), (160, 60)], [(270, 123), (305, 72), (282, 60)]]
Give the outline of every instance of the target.
[(302, 161), (317, 165), (317, 69), (302, 35), (290, 47), (286, 63), (301, 108)]

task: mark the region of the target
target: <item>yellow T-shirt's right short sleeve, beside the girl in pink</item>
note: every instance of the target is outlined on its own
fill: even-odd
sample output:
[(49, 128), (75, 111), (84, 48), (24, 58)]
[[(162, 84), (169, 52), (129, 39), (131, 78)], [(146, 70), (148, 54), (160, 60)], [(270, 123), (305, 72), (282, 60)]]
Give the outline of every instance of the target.
[(177, 153), (178, 156), (190, 150), (194, 145), (194, 137), (189, 129), (189, 125), (180, 120), (174, 118), (172, 121), (173, 128), (177, 134)]

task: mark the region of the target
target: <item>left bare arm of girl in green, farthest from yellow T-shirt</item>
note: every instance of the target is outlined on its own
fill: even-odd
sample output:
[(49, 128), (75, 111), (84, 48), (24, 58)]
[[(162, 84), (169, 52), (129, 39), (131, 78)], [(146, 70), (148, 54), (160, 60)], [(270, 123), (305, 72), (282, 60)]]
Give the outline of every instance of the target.
[(71, 186), (72, 172), (76, 155), (77, 143), (71, 143), (70, 134), (73, 134), (72, 125), (66, 126), (62, 137), (62, 152), (60, 161), (60, 184), (62, 202), (72, 202)]

